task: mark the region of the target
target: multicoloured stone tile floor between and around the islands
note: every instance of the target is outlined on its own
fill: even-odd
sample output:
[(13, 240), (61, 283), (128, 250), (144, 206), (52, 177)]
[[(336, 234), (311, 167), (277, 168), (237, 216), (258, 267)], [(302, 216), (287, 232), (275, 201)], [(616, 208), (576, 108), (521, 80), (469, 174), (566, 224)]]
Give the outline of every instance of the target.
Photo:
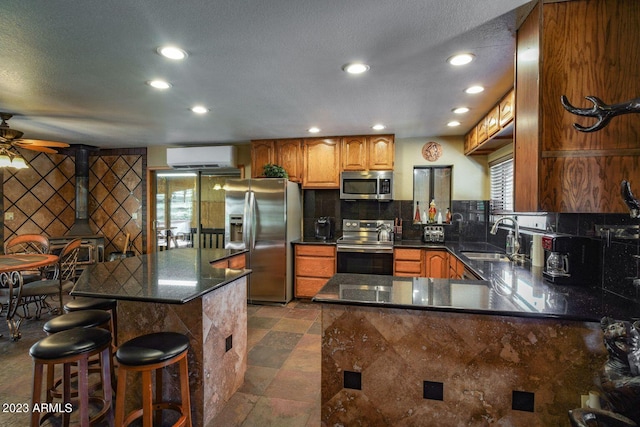
[[(25, 320), (12, 342), (0, 316), (0, 426), (29, 425), (12, 404), (30, 403), (33, 366), (29, 348), (45, 336), (51, 319)], [(293, 301), (286, 306), (248, 306), (248, 362), (244, 385), (206, 427), (320, 426), (320, 307)], [(51, 425), (55, 425), (51, 423)], [(195, 427), (195, 426), (194, 426)]]

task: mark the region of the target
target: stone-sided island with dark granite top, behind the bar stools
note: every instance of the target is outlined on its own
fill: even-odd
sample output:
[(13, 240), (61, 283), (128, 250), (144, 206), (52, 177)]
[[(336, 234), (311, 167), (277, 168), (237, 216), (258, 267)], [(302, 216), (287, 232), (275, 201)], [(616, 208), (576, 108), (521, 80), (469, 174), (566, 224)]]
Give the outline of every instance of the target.
[[(207, 425), (244, 382), (247, 368), (247, 269), (211, 263), (245, 250), (174, 249), (89, 266), (73, 296), (118, 300), (118, 343), (151, 332), (189, 337), (193, 425)], [(137, 380), (137, 379), (136, 379)], [(127, 402), (140, 401), (140, 384)], [(164, 375), (166, 396), (179, 396), (175, 375)]]

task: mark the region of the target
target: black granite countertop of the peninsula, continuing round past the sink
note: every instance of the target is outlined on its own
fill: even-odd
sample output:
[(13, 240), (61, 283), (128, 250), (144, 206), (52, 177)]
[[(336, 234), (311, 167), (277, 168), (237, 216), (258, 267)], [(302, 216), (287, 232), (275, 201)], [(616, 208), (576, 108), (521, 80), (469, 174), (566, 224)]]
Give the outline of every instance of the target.
[(336, 274), (316, 302), (373, 305), (533, 318), (600, 322), (604, 316), (633, 318), (640, 307), (599, 287), (549, 283), (530, 262), (478, 261), (465, 251), (504, 252), (491, 244), (397, 241), (395, 247), (446, 249), (480, 280)]

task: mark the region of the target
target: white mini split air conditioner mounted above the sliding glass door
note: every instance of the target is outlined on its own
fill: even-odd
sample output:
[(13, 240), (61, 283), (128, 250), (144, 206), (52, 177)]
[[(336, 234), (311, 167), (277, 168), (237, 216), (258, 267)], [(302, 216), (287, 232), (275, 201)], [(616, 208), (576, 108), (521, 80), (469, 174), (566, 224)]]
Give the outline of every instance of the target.
[(167, 164), (174, 169), (235, 168), (236, 147), (216, 145), (167, 148)]

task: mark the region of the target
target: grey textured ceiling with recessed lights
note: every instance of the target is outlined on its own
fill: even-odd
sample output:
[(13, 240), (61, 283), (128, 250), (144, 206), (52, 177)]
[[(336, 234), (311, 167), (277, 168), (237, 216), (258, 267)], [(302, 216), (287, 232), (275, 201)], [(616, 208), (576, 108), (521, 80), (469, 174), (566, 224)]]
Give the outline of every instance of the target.
[[(513, 84), (525, 0), (5, 1), (0, 111), (26, 138), (102, 148), (466, 133)], [(517, 9), (519, 8), (519, 9)], [(177, 44), (182, 62), (155, 53)], [(472, 52), (453, 68), (446, 59)], [(341, 71), (360, 60), (371, 70)], [(145, 84), (164, 78), (173, 87)], [(470, 96), (463, 89), (487, 89)], [(210, 112), (194, 115), (204, 104)], [(471, 112), (448, 128), (451, 109)]]

